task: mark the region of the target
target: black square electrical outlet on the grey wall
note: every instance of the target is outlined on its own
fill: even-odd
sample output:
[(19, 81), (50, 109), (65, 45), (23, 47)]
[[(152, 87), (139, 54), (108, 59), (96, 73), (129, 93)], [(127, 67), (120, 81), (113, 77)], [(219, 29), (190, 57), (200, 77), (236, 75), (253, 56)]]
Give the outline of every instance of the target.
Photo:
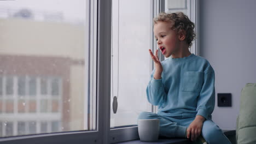
[(231, 107), (231, 93), (218, 93), (218, 106)]

